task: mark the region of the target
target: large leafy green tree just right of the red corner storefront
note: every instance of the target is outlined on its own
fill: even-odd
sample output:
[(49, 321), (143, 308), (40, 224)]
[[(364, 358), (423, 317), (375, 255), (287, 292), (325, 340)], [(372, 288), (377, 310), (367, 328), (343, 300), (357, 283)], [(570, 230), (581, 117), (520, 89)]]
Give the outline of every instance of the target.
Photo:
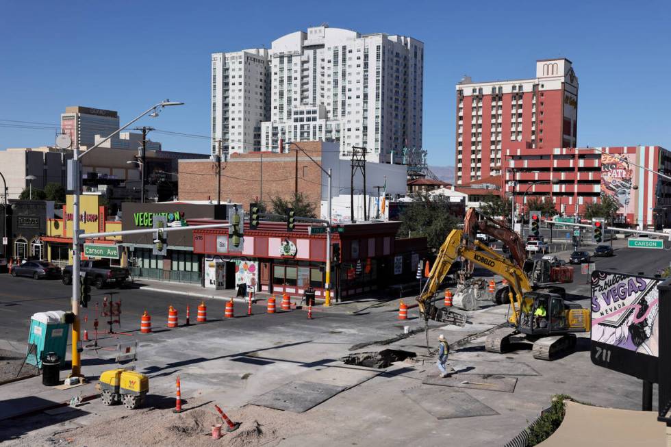
[(445, 198), (420, 196), (419, 201), (403, 205), (401, 227), (397, 238), (425, 236), (429, 250), (438, 251), (447, 235), (457, 227), (459, 220), (450, 214)]

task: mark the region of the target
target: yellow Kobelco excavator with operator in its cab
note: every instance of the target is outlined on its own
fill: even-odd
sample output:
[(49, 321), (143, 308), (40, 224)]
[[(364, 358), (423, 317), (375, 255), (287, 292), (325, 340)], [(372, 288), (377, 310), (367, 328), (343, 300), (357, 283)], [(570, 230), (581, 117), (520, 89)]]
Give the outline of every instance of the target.
[[(451, 312), (436, 307), (435, 292), (452, 264), (464, 257), (508, 281), (511, 316), (509, 327), (498, 329), (485, 340), (485, 350), (504, 353), (518, 343), (533, 344), (533, 357), (551, 360), (576, 344), (576, 332), (590, 331), (590, 313), (577, 303), (564, 301), (559, 288), (534, 288), (520, 266), (498, 255), (491, 248), (472, 240), (464, 231), (455, 229), (447, 236), (431, 268), (429, 281), (417, 298), (426, 320), (446, 321)], [(453, 312), (453, 311), (452, 311)]]

